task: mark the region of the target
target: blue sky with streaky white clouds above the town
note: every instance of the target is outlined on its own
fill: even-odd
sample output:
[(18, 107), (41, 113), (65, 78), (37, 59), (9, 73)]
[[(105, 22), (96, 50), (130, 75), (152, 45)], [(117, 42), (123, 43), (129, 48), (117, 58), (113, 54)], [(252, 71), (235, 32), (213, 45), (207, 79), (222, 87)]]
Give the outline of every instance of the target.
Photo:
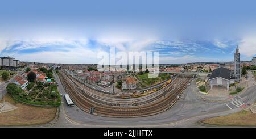
[(256, 1), (1, 1), (0, 56), (88, 63), (109, 52), (159, 52), (160, 63), (256, 56)]

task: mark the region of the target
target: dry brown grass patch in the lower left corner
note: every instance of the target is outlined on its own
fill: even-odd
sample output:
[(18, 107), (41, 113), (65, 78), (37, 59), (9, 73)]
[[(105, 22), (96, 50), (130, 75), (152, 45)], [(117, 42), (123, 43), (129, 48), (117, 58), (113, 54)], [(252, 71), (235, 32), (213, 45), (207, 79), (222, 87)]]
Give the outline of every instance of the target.
[(14, 111), (0, 113), (0, 125), (37, 125), (52, 121), (57, 108), (35, 107), (16, 102), (9, 94), (5, 101), (18, 107)]

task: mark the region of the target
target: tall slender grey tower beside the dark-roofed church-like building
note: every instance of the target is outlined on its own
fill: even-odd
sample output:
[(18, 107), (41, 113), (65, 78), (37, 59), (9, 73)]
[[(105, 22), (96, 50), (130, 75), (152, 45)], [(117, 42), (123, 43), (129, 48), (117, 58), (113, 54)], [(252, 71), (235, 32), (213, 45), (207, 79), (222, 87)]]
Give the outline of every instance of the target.
[(236, 52), (234, 53), (234, 77), (236, 78), (236, 82), (240, 82), (240, 76), (240, 53), (237, 47)]

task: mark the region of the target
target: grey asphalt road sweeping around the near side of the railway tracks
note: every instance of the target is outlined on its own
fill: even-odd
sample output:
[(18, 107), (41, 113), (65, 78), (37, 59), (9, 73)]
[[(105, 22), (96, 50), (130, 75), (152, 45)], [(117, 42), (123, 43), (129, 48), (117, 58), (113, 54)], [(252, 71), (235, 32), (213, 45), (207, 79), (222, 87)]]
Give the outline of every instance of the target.
[[(57, 76), (55, 75), (55, 77)], [(56, 81), (59, 83), (59, 91), (65, 94), (59, 78), (56, 78)], [(256, 86), (249, 87), (240, 96), (243, 103), (253, 103), (256, 99)], [(202, 95), (199, 95), (195, 81), (192, 81), (174, 107), (168, 109), (168, 111), (154, 116), (124, 119), (96, 116), (86, 113), (76, 106), (68, 107), (63, 98), (57, 122), (52, 125), (41, 125), (40, 127), (209, 127), (209, 125), (200, 124), (198, 121), (207, 117), (227, 115), (243, 109), (241, 107), (229, 109), (226, 104), (230, 103), (230, 99), (205, 99)]]

